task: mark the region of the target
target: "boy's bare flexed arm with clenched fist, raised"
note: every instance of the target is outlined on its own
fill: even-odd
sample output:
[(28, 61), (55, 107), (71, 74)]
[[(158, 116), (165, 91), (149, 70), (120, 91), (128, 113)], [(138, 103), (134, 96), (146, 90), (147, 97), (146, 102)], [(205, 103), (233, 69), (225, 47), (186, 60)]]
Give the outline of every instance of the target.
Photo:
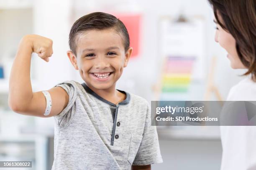
[(10, 108), (24, 115), (51, 117), (59, 114), (69, 102), (67, 92), (61, 87), (53, 87), (51, 95), (51, 112), (44, 116), (46, 99), (42, 92), (33, 92), (31, 87), (30, 69), (31, 54), (36, 52), (39, 57), (49, 61), (52, 40), (39, 35), (26, 35), (20, 40), (17, 54), (13, 62), (9, 80), (8, 104)]

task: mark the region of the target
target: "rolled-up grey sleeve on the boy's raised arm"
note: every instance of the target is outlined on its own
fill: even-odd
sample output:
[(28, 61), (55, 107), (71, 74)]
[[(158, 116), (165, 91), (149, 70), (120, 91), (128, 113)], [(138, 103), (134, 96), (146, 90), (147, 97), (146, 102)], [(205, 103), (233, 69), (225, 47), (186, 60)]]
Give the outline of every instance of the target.
[(61, 82), (54, 87), (56, 86), (62, 87), (69, 95), (69, 102), (67, 106), (58, 115), (54, 116), (58, 121), (59, 128), (64, 128), (69, 124), (70, 120), (74, 116), (77, 89), (74, 81)]

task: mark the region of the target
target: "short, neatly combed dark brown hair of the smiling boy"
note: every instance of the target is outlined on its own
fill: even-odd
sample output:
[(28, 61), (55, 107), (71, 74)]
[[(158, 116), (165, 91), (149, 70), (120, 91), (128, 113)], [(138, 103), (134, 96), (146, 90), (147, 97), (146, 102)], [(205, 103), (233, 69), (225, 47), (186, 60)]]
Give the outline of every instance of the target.
[(125, 51), (130, 47), (130, 37), (125, 25), (113, 15), (107, 13), (90, 13), (79, 18), (72, 26), (69, 33), (70, 50), (77, 55), (77, 35), (88, 30), (105, 30), (114, 28), (123, 36)]

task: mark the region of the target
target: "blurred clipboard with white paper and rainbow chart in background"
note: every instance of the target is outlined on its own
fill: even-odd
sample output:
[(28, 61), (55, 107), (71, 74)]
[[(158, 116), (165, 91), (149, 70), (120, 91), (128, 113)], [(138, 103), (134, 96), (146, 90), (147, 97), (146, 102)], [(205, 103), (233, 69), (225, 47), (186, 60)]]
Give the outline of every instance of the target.
[(186, 100), (192, 82), (205, 77), (205, 22), (202, 17), (159, 20), (161, 72), (155, 100)]

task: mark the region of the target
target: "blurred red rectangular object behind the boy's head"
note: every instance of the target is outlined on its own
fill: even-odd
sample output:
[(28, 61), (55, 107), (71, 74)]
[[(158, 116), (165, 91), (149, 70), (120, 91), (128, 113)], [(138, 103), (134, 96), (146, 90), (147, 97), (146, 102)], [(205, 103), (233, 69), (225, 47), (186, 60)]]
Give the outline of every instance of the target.
[(138, 57), (140, 51), (140, 29), (141, 15), (139, 14), (116, 14), (128, 30), (130, 36), (130, 47), (133, 47), (131, 58)]

